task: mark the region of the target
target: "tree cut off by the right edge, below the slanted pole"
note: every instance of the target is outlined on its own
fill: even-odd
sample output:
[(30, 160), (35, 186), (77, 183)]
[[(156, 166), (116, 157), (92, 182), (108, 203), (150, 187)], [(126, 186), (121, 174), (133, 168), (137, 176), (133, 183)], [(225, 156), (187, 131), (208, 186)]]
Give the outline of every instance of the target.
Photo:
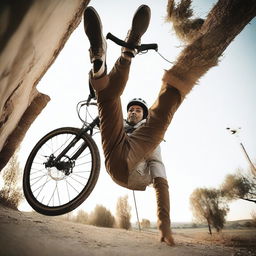
[(238, 170), (235, 174), (226, 176), (221, 191), (228, 200), (243, 199), (256, 203), (256, 176)]

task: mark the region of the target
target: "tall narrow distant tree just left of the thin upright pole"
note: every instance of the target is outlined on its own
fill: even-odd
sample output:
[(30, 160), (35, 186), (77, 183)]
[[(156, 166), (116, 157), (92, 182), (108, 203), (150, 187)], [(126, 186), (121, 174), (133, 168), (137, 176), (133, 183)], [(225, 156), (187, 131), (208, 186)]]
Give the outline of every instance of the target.
[(128, 204), (128, 195), (118, 198), (116, 216), (118, 227), (123, 229), (131, 228), (131, 206)]

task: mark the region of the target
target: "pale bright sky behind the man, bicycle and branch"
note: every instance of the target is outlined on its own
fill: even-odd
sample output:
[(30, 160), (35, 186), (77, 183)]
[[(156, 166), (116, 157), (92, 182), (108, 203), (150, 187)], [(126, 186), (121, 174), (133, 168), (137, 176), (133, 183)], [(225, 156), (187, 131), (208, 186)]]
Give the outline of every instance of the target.
[[(204, 18), (216, 1), (194, 0), (195, 16)], [(103, 33), (125, 38), (133, 14), (141, 4), (151, 8), (151, 23), (143, 36), (143, 43), (157, 43), (159, 52), (171, 62), (184, 47), (165, 22), (167, 1), (130, 0), (129, 3), (112, 0), (92, 0), (99, 12)], [(237, 168), (248, 168), (239, 142), (242, 141), (251, 159), (256, 162), (256, 20), (248, 24), (229, 45), (217, 67), (204, 75), (187, 96), (161, 143), (163, 161), (170, 186), (171, 219), (190, 222), (193, 216), (189, 197), (199, 187), (218, 188), (227, 174)], [(120, 55), (120, 47), (108, 41), (107, 65), (111, 70)], [(73, 32), (54, 64), (39, 82), (39, 91), (48, 94), (51, 101), (32, 124), (21, 145), (22, 168), (35, 143), (47, 132), (63, 126), (81, 127), (76, 114), (78, 101), (88, 95), (88, 72), (91, 68), (89, 43), (83, 23)], [(138, 55), (133, 60), (130, 78), (122, 95), (123, 109), (134, 97), (142, 97), (150, 106), (161, 85), (164, 69), (172, 64), (155, 51)], [(227, 127), (241, 127), (239, 138), (232, 136)], [(106, 173), (100, 135), (94, 137), (101, 153), (101, 173), (95, 189), (78, 208), (90, 212), (97, 204), (115, 214), (118, 197), (128, 195), (132, 206), (132, 220), (136, 220), (132, 191), (115, 184)], [(156, 199), (153, 187), (135, 192), (140, 219), (156, 221)], [(228, 220), (250, 218), (255, 205), (243, 200), (230, 205)], [(23, 203), (23, 210), (29, 209)]]

